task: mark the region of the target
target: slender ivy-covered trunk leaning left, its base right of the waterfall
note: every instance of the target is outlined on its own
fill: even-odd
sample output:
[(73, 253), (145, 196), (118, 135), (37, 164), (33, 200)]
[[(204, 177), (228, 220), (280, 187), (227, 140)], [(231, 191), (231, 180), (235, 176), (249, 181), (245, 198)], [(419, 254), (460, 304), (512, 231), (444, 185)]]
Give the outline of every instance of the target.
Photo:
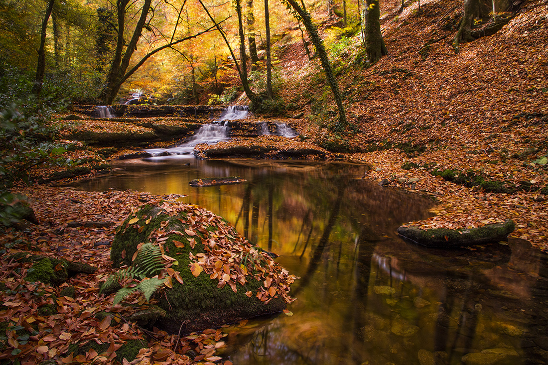
[(322, 38), (319, 37), (318, 30), (313, 24), (310, 14), (306, 12), (306, 10), (302, 9), (295, 0), (286, 1), (289, 5), (291, 5), (291, 7), (301, 18), (306, 27), (306, 31), (309, 33), (312, 44), (314, 44), (314, 47), (316, 47), (316, 53), (318, 54), (319, 60), (322, 63), (323, 70), (327, 76), (327, 81), (333, 93), (333, 98), (335, 99), (337, 109), (339, 110), (339, 126), (340, 128), (344, 129), (346, 127), (346, 113), (344, 111), (343, 99), (341, 98), (341, 95), (339, 93), (339, 86), (337, 85), (335, 75), (333, 75), (333, 70), (331, 69), (331, 65), (329, 64), (329, 58), (327, 56), (326, 49), (323, 47)]

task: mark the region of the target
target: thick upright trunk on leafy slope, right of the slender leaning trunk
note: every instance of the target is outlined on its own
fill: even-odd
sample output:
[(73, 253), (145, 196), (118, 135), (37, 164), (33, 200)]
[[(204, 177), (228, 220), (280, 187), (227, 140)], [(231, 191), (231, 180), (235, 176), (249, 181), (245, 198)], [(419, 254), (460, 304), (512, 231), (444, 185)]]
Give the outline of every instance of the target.
[(380, 8), (379, 0), (366, 0), (366, 9), (364, 10), (364, 43), (366, 45), (368, 65), (373, 65), (386, 56), (386, 45), (383, 35), (380, 32)]

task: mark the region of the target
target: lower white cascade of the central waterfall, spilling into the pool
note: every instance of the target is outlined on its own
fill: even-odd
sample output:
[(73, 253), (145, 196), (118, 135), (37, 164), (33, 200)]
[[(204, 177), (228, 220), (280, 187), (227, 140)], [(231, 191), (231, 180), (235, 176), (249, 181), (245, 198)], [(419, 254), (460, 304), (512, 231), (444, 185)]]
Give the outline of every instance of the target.
[(191, 155), (194, 152), (194, 147), (201, 143), (214, 145), (219, 141), (229, 139), (228, 122), (218, 121), (214, 123), (204, 124), (196, 131), (189, 141), (184, 144), (170, 149), (148, 149), (145, 152), (150, 153), (153, 157), (156, 156), (173, 156), (173, 155)]

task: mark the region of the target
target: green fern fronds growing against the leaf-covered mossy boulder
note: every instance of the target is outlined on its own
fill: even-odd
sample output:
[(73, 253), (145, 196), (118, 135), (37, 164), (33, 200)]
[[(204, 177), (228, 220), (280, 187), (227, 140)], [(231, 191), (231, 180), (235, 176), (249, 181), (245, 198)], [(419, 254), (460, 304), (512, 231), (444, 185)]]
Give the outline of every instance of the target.
[(145, 243), (139, 249), (137, 256), (133, 260), (133, 265), (113, 273), (106, 282), (102, 284), (100, 293), (105, 293), (112, 289), (121, 281), (128, 279), (139, 280), (135, 287), (122, 287), (116, 293), (113, 304), (118, 304), (130, 294), (141, 292), (147, 301), (152, 294), (156, 292), (164, 283), (164, 279), (154, 277), (163, 269), (162, 252), (158, 246), (152, 243)]

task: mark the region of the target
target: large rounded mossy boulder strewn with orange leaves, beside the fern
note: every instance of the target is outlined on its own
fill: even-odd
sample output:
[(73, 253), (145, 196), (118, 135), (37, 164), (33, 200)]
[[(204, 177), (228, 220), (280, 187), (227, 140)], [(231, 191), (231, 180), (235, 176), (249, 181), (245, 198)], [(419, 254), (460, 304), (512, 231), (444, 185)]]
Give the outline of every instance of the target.
[(287, 293), (294, 277), (206, 209), (158, 200), (135, 210), (117, 229), (113, 265), (132, 265), (139, 244), (147, 242), (161, 246), (168, 257), (168, 270), (159, 276), (172, 273), (173, 288), (156, 293), (167, 315), (155, 326), (167, 332), (276, 313), (291, 301)]

